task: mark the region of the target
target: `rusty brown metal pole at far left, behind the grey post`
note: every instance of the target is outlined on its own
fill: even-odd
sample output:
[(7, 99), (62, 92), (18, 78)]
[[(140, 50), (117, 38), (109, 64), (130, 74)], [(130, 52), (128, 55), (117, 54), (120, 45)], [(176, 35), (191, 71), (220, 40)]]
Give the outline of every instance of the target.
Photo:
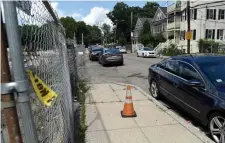
[[(3, 29), (1, 16), (1, 85), (11, 82), (6, 41), (6, 33)], [(1, 103), (8, 130), (9, 143), (22, 143), (14, 95), (12, 93), (1, 94)]]

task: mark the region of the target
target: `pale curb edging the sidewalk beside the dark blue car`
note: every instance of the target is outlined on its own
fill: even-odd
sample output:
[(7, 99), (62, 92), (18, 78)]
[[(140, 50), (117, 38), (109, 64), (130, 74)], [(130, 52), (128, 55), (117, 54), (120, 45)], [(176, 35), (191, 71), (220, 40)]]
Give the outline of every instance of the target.
[[(126, 85), (125, 83), (116, 83), (116, 82), (112, 82), (112, 83), (113, 83), (113, 84), (117, 84), (117, 85), (122, 85), (122, 86), (125, 86), (125, 85)], [(141, 88), (139, 88), (139, 87), (137, 87), (137, 86), (135, 86), (135, 85), (130, 85), (130, 86), (132, 86), (132, 87), (136, 88), (138, 91), (140, 91), (143, 95), (145, 95), (148, 99), (150, 99), (149, 101), (155, 103), (159, 109), (163, 110), (163, 111), (164, 111), (166, 114), (168, 114), (171, 118), (173, 118), (174, 120), (176, 120), (181, 126), (183, 126), (184, 128), (186, 128), (192, 135), (194, 135), (195, 137), (197, 137), (200, 141), (202, 141), (203, 143), (205, 142), (204, 140), (201, 139), (201, 137), (199, 137), (199, 135), (196, 135), (196, 134), (194, 133), (194, 131), (192, 131), (191, 129), (189, 129), (188, 127), (186, 127), (186, 125), (184, 125), (184, 124), (182, 123), (182, 121), (180, 121), (179, 119), (177, 119), (177, 118), (171, 116), (171, 115), (168, 113), (169, 110), (168, 110), (168, 109), (167, 109), (168, 111), (165, 110), (166, 107), (164, 107), (163, 105), (160, 105), (160, 103), (157, 103), (158, 101), (154, 101), (155, 99), (151, 99), (151, 98), (150, 98), (151, 95), (149, 95), (148, 93), (146, 93), (146, 92), (143, 91)], [(207, 141), (207, 143), (208, 143), (208, 142), (212, 142), (212, 141), (209, 140), (209, 139), (207, 139), (206, 141)]]

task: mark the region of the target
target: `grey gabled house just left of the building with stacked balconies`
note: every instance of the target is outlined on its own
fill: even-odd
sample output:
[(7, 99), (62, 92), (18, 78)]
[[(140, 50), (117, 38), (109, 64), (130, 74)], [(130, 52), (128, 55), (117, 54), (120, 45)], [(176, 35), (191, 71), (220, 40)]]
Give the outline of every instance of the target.
[(153, 35), (162, 34), (167, 38), (167, 7), (158, 7), (152, 20), (151, 32)]

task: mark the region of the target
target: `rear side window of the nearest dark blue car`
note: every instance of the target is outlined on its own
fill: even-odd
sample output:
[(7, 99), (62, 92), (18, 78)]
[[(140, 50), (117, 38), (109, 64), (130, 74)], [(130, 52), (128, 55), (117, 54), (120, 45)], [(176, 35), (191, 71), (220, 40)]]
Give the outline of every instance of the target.
[(166, 61), (166, 62), (163, 62), (161, 65), (160, 65), (160, 68), (172, 73), (172, 74), (175, 74), (177, 76), (180, 76), (179, 75), (179, 62), (178, 61)]

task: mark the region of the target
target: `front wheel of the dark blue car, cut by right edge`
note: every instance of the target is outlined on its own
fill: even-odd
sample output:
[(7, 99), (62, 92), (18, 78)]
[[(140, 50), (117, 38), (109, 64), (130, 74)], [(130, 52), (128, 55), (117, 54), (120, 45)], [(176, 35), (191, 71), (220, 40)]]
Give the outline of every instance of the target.
[(216, 143), (225, 143), (225, 116), (220, 113), (213, 113), (208, 124), (211, 136)]

